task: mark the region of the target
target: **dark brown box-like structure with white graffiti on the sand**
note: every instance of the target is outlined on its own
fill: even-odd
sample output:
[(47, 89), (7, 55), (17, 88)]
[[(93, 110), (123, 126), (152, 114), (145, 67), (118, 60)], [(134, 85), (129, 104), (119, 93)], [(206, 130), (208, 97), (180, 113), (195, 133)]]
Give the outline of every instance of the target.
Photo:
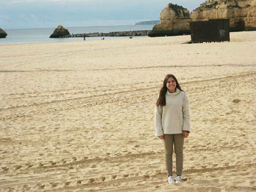
[(230, 41), (229, 19), (189, 22), (192, 43)]

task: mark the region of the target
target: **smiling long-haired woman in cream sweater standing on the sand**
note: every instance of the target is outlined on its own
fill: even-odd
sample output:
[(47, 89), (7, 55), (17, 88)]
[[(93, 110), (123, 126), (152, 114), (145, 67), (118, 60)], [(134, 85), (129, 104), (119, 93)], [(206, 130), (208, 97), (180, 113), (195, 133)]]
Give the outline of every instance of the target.
[[(166, 75), (155, 106), (155, 132), (163, 139), (168, 183), (180, 183), (184, 138), (190, 133), (188, 99), (174, 75)], [(173, 178), (173, 144), (177, 178)]]

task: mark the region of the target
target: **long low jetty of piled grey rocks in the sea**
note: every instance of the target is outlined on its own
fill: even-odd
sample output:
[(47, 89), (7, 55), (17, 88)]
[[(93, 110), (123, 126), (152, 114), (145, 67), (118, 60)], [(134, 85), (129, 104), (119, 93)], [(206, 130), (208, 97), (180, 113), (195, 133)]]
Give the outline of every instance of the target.
[(126, 36), (147, 36), (151, 30), (141, 30), (141, 31), (117, 31), (110, 33), (79, 33), (72, 35), (64, 35), (65, 37), (126, 37)]

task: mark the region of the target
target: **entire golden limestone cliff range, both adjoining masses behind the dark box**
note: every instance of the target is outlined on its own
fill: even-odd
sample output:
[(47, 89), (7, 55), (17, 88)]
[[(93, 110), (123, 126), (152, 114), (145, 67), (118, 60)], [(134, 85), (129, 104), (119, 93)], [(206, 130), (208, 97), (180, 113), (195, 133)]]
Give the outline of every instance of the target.
[(169, 3), (160, 14), (160, 23), (150, 37), (190, 34), (190, 21), (229, 19), (230, 31), (256, 30), (256, 0), (207, 0), (189, 11)]

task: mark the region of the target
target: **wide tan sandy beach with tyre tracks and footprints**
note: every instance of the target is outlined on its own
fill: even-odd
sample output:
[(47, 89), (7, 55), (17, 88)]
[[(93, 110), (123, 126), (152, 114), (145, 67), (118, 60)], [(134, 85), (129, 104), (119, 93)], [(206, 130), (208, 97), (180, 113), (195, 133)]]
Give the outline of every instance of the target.
[[(256, 31), (190, 39), (0, 45), (0, 192), (256, 191)], [(189, 99), (181, 184), (155, 137), (166, 74)]]

